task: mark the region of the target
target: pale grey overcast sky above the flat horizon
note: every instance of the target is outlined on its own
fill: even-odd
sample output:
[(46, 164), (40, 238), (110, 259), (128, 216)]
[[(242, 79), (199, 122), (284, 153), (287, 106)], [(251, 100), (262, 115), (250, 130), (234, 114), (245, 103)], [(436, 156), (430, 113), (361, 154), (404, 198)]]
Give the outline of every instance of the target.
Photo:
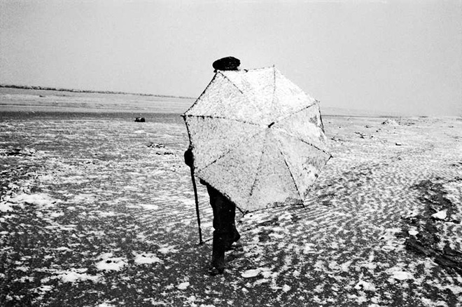
[(326, 107), (462, 114), (462, 0), (0, 0), (0, 83), (197, 97), (214, 60)]

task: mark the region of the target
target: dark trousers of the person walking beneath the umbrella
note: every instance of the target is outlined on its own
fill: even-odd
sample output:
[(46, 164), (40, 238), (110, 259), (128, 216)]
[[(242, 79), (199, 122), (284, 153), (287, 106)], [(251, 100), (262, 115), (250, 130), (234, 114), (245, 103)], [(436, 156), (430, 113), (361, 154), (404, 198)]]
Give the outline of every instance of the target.
[(236, 205), (208, 184), (207, 191), (210, 196), (210, 205), (214, 211), (214, 246), (211, 265), (223, 269), (225, 251), (240, 238), (235, 224)]

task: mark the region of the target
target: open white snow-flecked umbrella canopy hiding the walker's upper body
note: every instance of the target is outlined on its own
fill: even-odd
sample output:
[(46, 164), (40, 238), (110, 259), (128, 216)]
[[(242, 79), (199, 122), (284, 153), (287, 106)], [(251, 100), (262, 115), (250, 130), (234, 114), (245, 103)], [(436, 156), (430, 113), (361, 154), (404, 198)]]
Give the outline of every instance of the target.
[(196, 176), (243, 212), (302, 204), (331, 157), (318, 102), (274, 67), (216, 71), (183, 118)]

